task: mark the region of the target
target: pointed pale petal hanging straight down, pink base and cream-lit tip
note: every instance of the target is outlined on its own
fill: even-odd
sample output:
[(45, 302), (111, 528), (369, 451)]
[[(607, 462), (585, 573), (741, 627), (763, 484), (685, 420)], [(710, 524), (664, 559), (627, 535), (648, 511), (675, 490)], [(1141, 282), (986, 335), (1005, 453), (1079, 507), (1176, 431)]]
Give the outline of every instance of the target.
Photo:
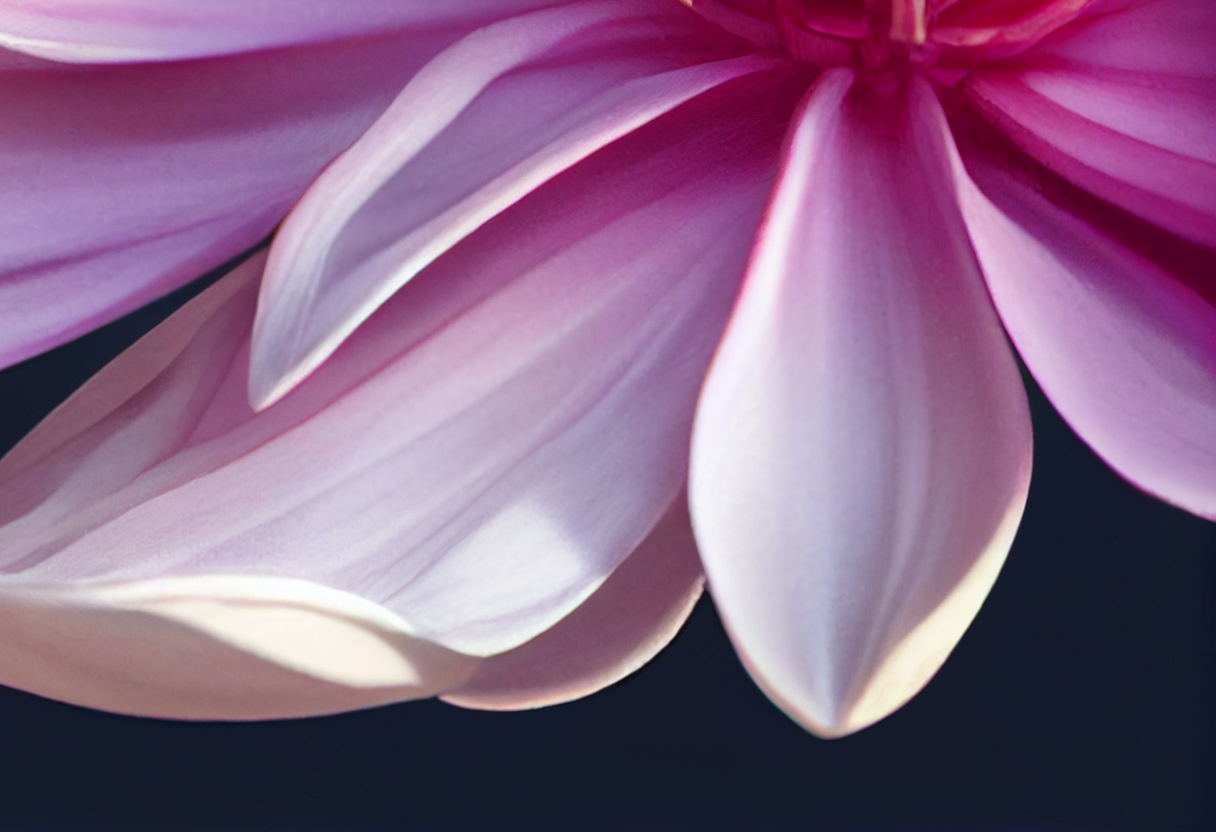
[(809, 94), (693, 434), (693, 528), (748, 669), (804, 726), (912, 697), (979, 609), (1030, 479), (1025, 393), (928, 85)]

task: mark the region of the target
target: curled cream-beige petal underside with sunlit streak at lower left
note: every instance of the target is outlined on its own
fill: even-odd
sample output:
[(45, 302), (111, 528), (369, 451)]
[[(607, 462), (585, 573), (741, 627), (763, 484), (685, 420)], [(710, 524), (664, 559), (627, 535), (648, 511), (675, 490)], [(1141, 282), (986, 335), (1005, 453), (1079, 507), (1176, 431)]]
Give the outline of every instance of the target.
[(0, 682), (171, 719), (276, 719), (434, 696), (479, 659), (344, 592), (271, 578), (0, 583)]

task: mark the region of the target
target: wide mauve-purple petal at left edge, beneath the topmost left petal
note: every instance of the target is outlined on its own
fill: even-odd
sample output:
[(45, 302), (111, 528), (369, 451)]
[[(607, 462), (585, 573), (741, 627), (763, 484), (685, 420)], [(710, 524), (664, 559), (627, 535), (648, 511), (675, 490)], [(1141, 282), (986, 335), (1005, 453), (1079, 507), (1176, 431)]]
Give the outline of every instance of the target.
[(264, 240), (451, 36), (137, 67), (7, 62), (0, 366)]

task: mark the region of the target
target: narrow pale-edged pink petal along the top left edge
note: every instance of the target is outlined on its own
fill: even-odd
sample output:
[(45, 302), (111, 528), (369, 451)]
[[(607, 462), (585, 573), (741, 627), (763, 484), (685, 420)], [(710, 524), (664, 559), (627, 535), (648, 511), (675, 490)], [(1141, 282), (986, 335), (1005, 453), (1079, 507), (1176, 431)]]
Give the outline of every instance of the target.
[(169, 61), (440, 28), (468, 30), (556, 0), (17, 0), (0, 46), (84, 63)]

